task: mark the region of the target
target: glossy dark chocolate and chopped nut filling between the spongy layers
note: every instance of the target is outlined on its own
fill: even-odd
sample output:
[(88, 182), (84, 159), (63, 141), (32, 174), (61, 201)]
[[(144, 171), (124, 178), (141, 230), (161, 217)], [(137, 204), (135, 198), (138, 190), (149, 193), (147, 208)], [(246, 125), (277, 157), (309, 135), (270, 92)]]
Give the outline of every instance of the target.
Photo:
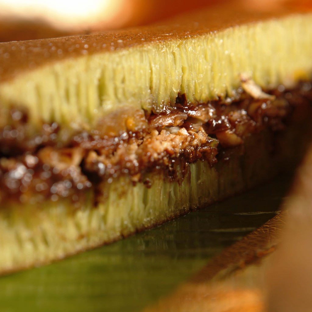
[(145, 174), (160, 170), (181, 181), (190, 163), (213, 166), (247, 136), (283, 131), (295, 108), (311, 102), (307, 82), (293, 90), (280, 86), (268, 98), (241, 89), (236, 99), (193, 104), (181, 95), (160, 114), (123, 108), (83, 130), (56, 123), (34, 130), (27, 111), (14, 106), (0, 117), (0, 202), (66, 197), (79, 204), (87, 189), (100, 194), (103, 181), (127, 175), (150, 187)]

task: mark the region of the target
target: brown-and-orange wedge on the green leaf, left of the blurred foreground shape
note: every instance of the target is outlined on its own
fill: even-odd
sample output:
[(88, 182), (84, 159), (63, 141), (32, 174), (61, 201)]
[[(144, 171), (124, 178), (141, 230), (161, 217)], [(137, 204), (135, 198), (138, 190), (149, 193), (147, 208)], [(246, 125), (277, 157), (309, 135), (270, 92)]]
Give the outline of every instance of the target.
[(286, 220), (287, 215), (280, 214), (245, 236), (180, 285), (173, 295), (144, 312), (264, 312), (265, 296), (257, 276), (263, 273), (261, 268), (270, 258), (267, 256), (280, 241)]

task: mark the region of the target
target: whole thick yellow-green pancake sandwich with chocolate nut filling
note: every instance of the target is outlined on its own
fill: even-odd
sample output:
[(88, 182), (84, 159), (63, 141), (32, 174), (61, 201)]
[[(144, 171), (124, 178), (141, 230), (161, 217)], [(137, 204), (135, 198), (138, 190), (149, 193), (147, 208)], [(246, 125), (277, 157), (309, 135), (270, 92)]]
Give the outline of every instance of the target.
[(311, 42), (310, 13), (222, 7), (0, 44), (0, 272), (115, 241), (292, 167), (310, 136)]

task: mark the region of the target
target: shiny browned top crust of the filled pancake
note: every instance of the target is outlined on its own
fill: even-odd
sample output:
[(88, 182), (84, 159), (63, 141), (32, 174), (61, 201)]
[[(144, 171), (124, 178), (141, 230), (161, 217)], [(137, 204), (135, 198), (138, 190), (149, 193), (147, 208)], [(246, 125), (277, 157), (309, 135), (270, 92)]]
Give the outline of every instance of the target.
[(56, 39), (12, 41), (0, 43), (0, 82), (13, 79), (19, 72), (61, 59), (114, 52), (134, 46), (182, 40), (204, 33), (218, 32), (228, 27), (283, 17), (302, 10), (283, 9), (278, 12), (250, 12), (226, 5), (193, 14), (182, 15), (163, 24), (130, 28), (119, 32), (106, 32)]

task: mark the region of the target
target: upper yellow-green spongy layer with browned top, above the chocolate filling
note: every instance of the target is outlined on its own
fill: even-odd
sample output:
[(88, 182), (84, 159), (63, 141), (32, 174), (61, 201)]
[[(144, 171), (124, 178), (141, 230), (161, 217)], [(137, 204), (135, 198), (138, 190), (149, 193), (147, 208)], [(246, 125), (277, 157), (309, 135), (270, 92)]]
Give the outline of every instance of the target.
[[(235, 97), (242, 73), (265, 89), (310, 80), (311, 14), (218, 32), (169, 27), (168, 40), (165, 30), (159, 28), (159, 38), (126, 32), (0, 46), (1, 103), (28, 107), (34, 125), (43, 120), (81, 127), (125, 104), (160, 111), (178, 94), (190, 102)], [(8, 66), (19, 64), (19, 57), (26, 68)]]

